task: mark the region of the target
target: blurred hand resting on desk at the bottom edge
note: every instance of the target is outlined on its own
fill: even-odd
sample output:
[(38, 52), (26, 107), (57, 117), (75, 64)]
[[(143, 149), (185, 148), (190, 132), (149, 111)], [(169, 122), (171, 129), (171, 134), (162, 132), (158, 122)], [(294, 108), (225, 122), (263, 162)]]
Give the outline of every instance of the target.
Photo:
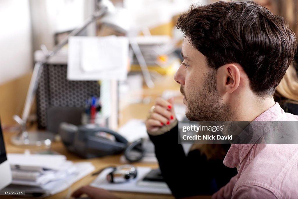
[(82, 194), (88, 195), (91, 199), (120, 199), (105, 189), (95, 188), (92, 186), (82, 186), (80, 189), (77, 189), (72, 193), (72, 197), (78, 198)]

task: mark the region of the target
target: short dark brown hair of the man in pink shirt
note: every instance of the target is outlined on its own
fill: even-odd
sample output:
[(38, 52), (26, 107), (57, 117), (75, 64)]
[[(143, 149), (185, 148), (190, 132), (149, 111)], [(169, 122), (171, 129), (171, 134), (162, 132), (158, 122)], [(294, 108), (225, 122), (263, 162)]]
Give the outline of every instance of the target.
[(179, 16), (177, 28), (209, 67), (240, 64), (259, 96), (273, 95), (297, 49), (284, 18), (253, 1), (193, 4)]

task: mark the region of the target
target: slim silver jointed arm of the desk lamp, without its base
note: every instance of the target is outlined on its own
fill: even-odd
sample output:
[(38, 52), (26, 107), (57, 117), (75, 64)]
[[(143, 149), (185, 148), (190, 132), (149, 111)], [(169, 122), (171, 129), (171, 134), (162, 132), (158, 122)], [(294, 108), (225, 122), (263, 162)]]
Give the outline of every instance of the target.
[[(29, 84), (29, 88), (28, 88), (28, 92), (27, 92), (27, 96), (26, 96), (26, 100), (25, 100), (25, 105), (24, 105), (24, 109), (23, 109), (23, 113), (22, 113), (22, 130), (21, 132), (23, 132), (26, 129), (26, 122), (30, 113), (30, 109), (33, 103), (33, 98), (36, 94), (36, 90), (37, 90), (37, 86), (38, 86), (38, 81), (39, 78), (41, 76), (44, 64), (49, 60), (49, 58), (53, 55), (55, 55), (65, 44), (68, 43), (68, 39), (70, 36), (76, 36), (78, 35), (82, 30), (84, 30), (89, 24), (91, 24), (93, 21), (95, 21), (97, 18), (100, 18), (102, 16), (105, 15), (106, 11), (108, 10), (107, 7), (103, 7), (100, 10), (96, 11), (93, 15), (91, 15), (89, 18), (86, 19), (86, 21), (84, 22), (84, 24), (78, 28), (76, 28), (75, 30), (73, 30), (71, 33), (69, 33), (69, 35), (66, 36), (66, 38), (64, 38), (62, 41), (60, 41), (54, 48), (52, 51), (50, 51), (49, 53), (47, 53), (45, 55), (45, 58), (42, 59), (41, 61), (38, 61), (35, 63), (34, 69), (33, 69), (33, 73), (31, 76), (31, 80), (30, 80), (30, 84)], [(14, 118), (18, 118), (15, 117)], [(20, 123), (20, 121), (18, 119), (15, 119), (18, 123)]]

